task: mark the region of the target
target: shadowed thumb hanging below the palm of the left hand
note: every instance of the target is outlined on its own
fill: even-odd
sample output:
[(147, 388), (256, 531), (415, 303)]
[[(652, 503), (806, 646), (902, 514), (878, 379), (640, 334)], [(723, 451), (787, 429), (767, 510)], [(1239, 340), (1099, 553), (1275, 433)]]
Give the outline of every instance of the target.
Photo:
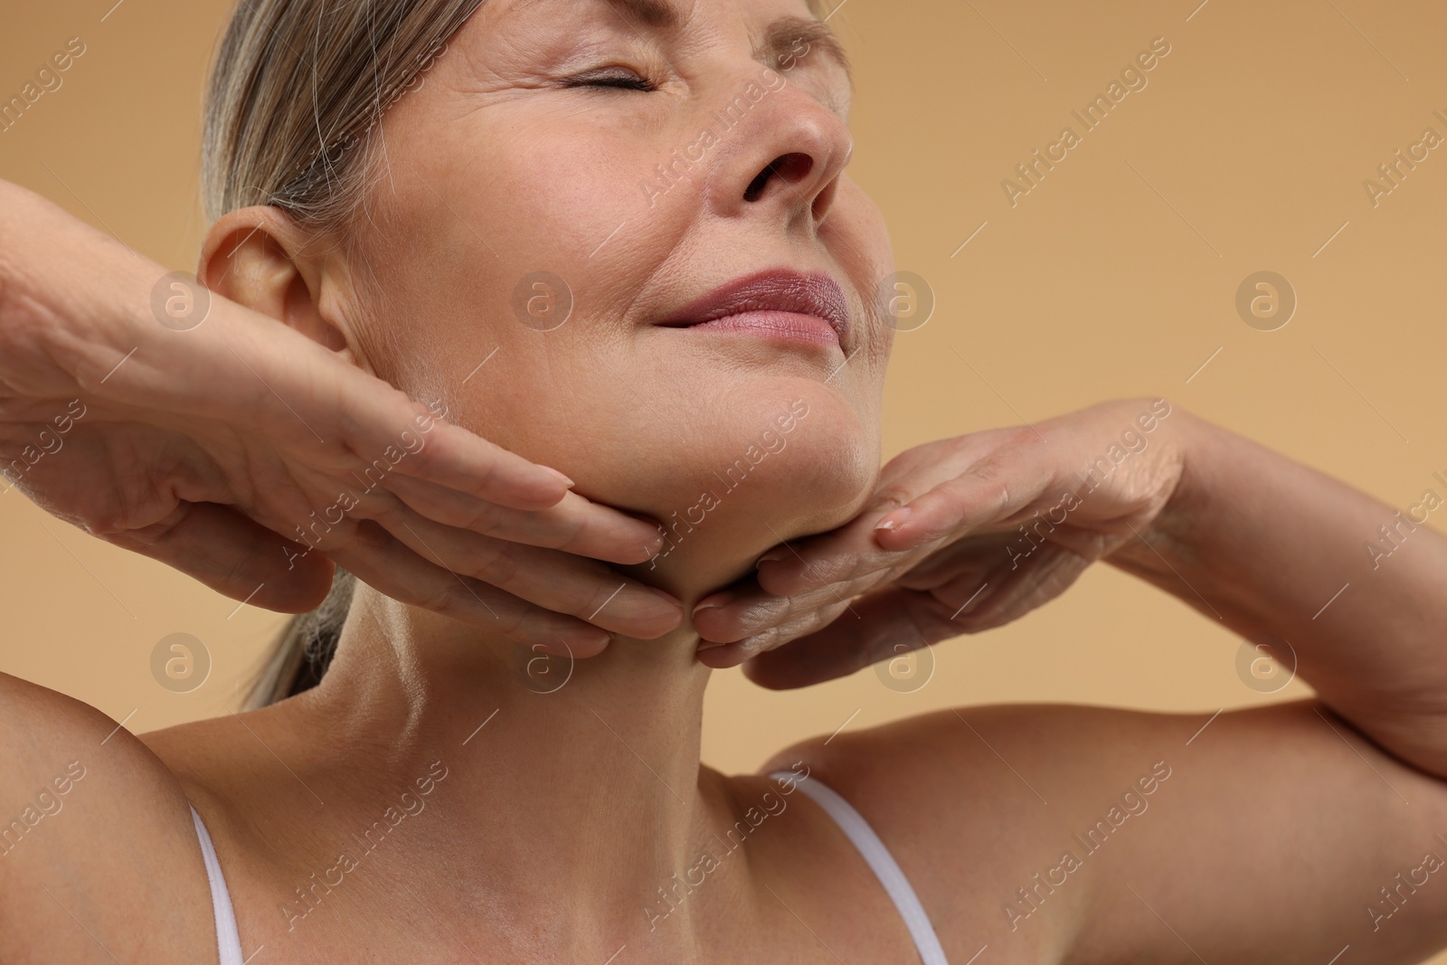
[(106, 540), (175, 567), (233, 600), (282, 613), (314, 609), (331, 589), (330, 560), (315, 554), (288, 566), (304, 547), (211, 502), (182, 502), (156, 524)]

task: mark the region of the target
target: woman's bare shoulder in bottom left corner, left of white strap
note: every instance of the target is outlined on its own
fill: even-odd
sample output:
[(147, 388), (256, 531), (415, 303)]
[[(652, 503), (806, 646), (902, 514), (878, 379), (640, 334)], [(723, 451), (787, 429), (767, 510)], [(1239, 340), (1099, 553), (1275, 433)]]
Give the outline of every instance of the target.
[(96, 707), (0, 673), (0, 961), (194, 961), (211, 922), (175, 775)]

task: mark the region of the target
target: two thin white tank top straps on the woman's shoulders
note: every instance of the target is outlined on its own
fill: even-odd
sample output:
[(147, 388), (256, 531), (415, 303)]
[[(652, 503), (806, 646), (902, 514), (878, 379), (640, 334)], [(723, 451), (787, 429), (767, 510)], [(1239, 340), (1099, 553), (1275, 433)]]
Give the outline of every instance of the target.
[[(860, 812), (854, 810), (849, 802), (839, 797), (832, 788), (825, 787), (819, 778), (806, 777), (800, 780), (792, 771), (777, 771), (770, 777), (792, 781), (794, 787), (816, 802), (839, 825), (845, 836), (854, 842), (854, 846), (860, 849), (860, 855), (868, 862), (875, 877), (878, 877), (880, 884), (884, 885), (884, 890), (894, 901), (894, 907), (899, 909), (900, 916), (904, 919), (904, 926), (909, 929), (910, 938), (915, 939), (915, 948), (919, 949), (922, 965), (949, 965), (945, 961), (945, 949), (939, 946), (939, 938), (935, 935), (935, 926), (929, 923), (929, 916), (925, 914), (925, 907), (919, 903), (915, 888), (910, 887), (909, 880), (900, 871), (888, 848), (884, 846), (884, 842), (880, 841), (880, 836), (874, 833), (874, 829), (870, 828)], [(220, 962), (221, 965), (246, 965), (246, 959), (242, 955), (242, 938), (236, 930), (236, 911), (232, 907), (232, 894), (226, 890), (226, 877), (221, 874), (221, 862), (216, 856), (216, 845), (211, 843), (211, 835), (205, 830), (205, 823), (195, 813), (194, 806), (191, 807), (191, 819), (195, 822), (195, 836), (201, 841), (205, 877), (211, 883), (211, 910), (216, 914), (216, 946)]]

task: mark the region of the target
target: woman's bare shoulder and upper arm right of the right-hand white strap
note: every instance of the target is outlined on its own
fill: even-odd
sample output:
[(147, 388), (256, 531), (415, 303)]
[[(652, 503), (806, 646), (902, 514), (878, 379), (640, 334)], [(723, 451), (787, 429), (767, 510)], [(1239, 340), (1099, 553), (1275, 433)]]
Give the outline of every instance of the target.
[(1208, 718), (946, 710), (815, 761), (967, 959), (1325, 964), (1350, 945), (1417, 962), (1447, 945), (1447, 784), (1315, 702)]

